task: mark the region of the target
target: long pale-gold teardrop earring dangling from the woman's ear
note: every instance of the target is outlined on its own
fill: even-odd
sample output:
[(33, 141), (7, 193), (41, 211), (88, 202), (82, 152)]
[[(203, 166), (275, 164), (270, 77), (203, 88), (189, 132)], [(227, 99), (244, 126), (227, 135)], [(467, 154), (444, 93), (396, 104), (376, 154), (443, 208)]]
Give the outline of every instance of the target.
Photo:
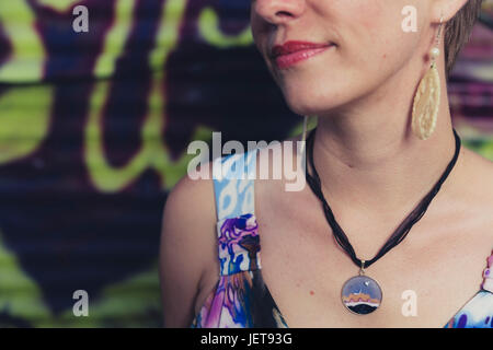
[(421, 140), (426, 140), (435, 131), (438, 107), (440, 104), (440, 75), (436, 68), (436, 58), (440, 55), (438, 48), (444, 16), (436, 36), (435, 47), (429, 51), (432, 66), (417, 86), (413, 103), (412, 130)]

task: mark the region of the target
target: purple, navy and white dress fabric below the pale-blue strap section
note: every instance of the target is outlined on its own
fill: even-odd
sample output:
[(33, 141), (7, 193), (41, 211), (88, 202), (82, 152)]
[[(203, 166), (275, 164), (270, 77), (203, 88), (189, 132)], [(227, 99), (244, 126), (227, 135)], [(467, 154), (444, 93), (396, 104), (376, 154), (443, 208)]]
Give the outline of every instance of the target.
[(261, 275), (256, 219), (218, 223), (220, 278), (193, 322), (194, 328), (284, 327)]

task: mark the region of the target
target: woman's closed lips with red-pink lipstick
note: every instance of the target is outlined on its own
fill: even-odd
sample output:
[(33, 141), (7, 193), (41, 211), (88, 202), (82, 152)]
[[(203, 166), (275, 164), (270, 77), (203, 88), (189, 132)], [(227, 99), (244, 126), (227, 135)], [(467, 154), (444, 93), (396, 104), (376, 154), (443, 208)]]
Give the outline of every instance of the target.
[(286, 69), (334, 46), (332, 43), (316, 44), (309, 42), (286, 42), (272, 49), (271, 57), (279, 69)]

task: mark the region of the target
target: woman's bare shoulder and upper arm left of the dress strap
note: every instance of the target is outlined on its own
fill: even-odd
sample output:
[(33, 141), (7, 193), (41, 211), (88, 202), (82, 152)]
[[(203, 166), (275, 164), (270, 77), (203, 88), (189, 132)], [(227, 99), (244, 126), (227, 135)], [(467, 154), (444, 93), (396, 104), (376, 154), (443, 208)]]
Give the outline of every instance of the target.
[(215, 224), (213, 180), (183, 177), (169, 194), (162, 217), (160, 281), (165, 327), (190, 326), (203, 279), (217, 259)]

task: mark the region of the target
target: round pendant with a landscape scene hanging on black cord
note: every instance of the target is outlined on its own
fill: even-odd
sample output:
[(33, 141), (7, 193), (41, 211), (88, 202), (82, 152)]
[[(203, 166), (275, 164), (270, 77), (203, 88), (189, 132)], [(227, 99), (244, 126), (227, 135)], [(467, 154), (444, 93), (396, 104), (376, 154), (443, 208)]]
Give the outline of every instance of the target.
[(348, 311), (357, 315), (366, 315), (380, 306), (382, 295), (377, 281), (362, 275), (344, 283), (341, 298)]

